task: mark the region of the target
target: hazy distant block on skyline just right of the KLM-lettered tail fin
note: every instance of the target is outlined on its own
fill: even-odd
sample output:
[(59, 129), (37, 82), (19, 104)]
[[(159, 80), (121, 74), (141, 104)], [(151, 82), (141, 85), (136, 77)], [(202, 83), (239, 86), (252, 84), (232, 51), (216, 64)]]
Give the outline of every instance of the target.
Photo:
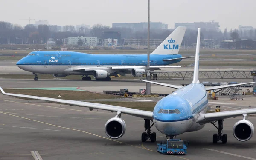
[(194, 23), (175, 23), (174, 28), (187, 27), (187, 29), (197, 30), (198, 28), (206, 29), (207, 31), (219, 31), (218, 22), (194, 22)]

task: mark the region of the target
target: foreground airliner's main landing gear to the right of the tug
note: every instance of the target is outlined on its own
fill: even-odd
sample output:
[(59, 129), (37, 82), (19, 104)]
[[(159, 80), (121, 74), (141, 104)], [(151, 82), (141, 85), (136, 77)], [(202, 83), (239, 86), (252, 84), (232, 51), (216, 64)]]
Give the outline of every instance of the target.
[[(218, 121), (218, 127), (215, 125), (215, 123)], [(223, 130), (223, 120), (216, 120), (215, 122), (211, 122), (213, 126), (218, 129), (218, 134), (213, 134), (212, 137), (212, 143), (217, 143), (218, 141), (222, 141), (223, 144), (227, 143), (227, 134), (222, 135)]]

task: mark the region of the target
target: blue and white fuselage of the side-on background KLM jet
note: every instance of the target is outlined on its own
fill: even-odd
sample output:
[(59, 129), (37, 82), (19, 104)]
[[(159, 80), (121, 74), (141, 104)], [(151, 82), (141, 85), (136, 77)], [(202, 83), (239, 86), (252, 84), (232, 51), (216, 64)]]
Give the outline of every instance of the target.
[[(163, 61), (163, 59), (180, 58), (175, 55), (150, 55), (150, 65), (169, 65), (181, 60)], [(86, 54), (72, 51), (33, 51), (16, 64), (20, 69), (41, 74), (84, 74), (74, 72), (73, 68), (84, 66), (109, 67), (109, 66), (146, 66), (146, 54)]]

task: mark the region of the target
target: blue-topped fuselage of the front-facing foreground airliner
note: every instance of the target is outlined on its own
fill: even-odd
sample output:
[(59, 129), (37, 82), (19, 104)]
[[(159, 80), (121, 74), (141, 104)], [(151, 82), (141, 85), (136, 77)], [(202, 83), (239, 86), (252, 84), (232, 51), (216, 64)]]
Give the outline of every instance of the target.
[(204, 85), (189, 84), (156, 104), (153, 122), (157, 130), (168, 136), (197, 131), (204, 125), (195, 122), (200, 113), (206, 112), (207, 106), (208, 98)]

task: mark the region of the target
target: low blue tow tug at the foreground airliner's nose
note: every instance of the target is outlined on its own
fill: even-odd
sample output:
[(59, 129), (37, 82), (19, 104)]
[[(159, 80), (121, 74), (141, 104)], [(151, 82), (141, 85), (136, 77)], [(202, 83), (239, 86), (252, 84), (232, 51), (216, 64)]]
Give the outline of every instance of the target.
[(183, 140), (165, 140), (157, 143), (157, 151), (163, 154), (186, 154), (189, 142)]

